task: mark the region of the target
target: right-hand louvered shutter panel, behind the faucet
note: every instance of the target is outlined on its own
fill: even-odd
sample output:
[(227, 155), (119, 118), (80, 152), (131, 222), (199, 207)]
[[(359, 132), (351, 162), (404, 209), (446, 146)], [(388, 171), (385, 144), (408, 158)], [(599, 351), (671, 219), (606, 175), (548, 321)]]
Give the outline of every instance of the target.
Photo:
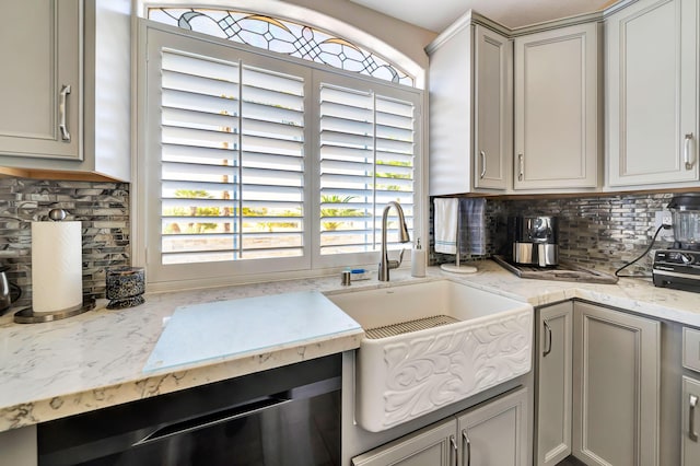
[(413, 103), (327, 83), (319, 92), (320, 254), (374, 251), (388, 201), (412, 230)]

